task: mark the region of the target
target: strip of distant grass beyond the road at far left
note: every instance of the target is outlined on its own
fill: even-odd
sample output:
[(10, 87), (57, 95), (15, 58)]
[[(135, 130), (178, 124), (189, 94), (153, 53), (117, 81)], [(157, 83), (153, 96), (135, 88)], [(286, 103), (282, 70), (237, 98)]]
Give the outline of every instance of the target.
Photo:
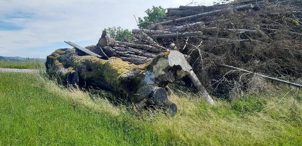
[(25, 62), (14, 62), (0, 60), (0, 68), (9, 68), (9, 69), (43, 69), (45, 64), (40, 61), (25, 61)]

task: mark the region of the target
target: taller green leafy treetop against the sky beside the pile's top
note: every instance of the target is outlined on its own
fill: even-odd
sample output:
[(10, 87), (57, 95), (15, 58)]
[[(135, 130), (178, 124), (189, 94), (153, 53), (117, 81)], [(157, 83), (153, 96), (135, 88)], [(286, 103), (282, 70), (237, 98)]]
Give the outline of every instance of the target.
[(139, 17), (139, 28), (147, 28), (152, 23), (158, 23), (165, 20), (165, 9), (161, 6), (153, 6), (152, 9), (147, 9), (145, 12), (147, 13), (147, 16), (143, 18)]

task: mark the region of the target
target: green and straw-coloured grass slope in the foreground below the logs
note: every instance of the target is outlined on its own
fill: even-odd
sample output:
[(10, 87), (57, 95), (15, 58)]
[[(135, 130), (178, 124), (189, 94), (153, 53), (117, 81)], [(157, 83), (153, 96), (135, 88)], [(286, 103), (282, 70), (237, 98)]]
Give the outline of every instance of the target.
[(171, 95), (179, 107), (176, 116), (138, 116), (39, 75), (0, 73), (0, 145), (302, 144), (302, 106), (288, 110), (295, 94), (260, 112), (278, 103), (282, 94), (217, 101), (216, 107), (198, 97)]

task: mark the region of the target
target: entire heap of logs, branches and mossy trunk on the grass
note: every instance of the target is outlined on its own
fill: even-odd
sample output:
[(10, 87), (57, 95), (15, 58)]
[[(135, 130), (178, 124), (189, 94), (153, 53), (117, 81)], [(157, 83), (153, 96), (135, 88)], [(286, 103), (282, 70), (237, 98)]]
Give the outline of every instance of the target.
[(235, 0), (168, 8), (165, 21), (133, 29), (129, 42), (106, 32), (85, 48), (66, 41), (74, 48), (47, 56), (47, 73), (62, 84), (117, 92), (138, 107), (160, 106), (173, 114), (177, 106), (165, 88), (186, 81), (214, 105), (210, 94), (225, 97), (238, 84), (244, 90), (252, 74), (274, 81), (302, 77), (301, 2)]

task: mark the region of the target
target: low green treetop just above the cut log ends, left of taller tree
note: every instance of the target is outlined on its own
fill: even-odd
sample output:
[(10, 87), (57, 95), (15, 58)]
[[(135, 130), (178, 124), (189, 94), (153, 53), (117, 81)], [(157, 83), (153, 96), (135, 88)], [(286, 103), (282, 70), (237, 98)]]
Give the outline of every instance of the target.
[(129, 41), (133, 39), (132, 33), (128, 29), (123, 29), (120, 26), (108, 27), (105, 28), (104, 31), (107, 32), (109, 37), (112, 37), (117, 41)]

